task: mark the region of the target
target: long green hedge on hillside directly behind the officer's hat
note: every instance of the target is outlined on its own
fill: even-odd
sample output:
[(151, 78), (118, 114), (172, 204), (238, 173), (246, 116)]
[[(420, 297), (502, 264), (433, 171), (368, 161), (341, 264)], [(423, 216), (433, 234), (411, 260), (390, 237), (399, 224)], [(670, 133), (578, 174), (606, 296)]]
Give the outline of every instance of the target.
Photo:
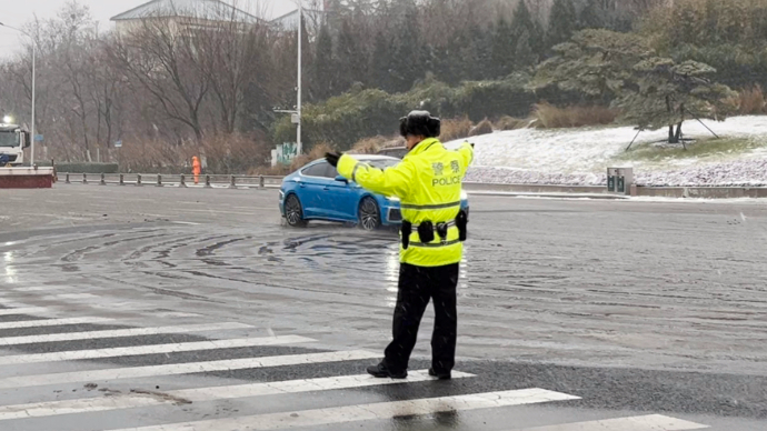
[[(449, 87), (427, 78), (407, 93), (389, 94), (358, 87), (321, 104), (303, 109), (302, 138), (308, 152), (317, 143), (348, 150), (360, 139), (395, 134), (399, 118), (414, 109), (425, 109), (441, 118), (469, 117), (478, 122), (502, 116), (527, 117), (538, 97), (526, 88), (527, 76), (501, 81), (465, 82)], [(275, 142), (295, 142), (296, 127), (289, 118), (276, 122)]]

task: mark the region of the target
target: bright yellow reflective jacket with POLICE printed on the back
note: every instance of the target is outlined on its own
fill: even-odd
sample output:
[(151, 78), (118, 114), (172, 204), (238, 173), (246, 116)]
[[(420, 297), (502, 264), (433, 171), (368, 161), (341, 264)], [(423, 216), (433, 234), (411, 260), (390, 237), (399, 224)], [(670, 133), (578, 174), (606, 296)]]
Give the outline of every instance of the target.
[(446, 243), (436, 234), (432, 242), (421, 243), (417, 225), (422, 221), (437, 224), (456, 219), (460, 211), (461, 183), (472, 160), (474, 148), (468, 142), (450, 151), (439, 140), (426, 139), (399, 164), (386, 170), (345, 154), (338, 162), (338, 173), (373, 193), (400, 199), (402, 218), (414, 225), (408, 249), (400, 244), (400, 262), (442, 267), (461, 260), (464, 244), (458, 228), (450, 227)]

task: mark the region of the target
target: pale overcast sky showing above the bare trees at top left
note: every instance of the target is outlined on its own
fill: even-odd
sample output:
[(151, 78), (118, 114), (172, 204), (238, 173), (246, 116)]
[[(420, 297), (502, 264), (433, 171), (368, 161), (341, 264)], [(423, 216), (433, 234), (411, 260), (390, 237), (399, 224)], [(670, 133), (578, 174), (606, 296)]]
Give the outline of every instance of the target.
[[(39, 18), (51, 18), (68, 0), (0, 0), (0, 22), (13, 27), (21, 27), (31, 21), (37, 14)], [(124, 12), (149, 0), (77, 0), (81, 4), (90, 7), (91, 14), (102, 29), (110, 28), (111, 17)], [(229, 1), (232, 2), (231, 0)], [(291, 0), (236, 0), (238, 7), (249, 12), (263, 9), (266, 17), (279, 17), (296, 9)], [(7, 57), (9, 50), (14, 50), (19, 43), (17, 32), (0, 27), (0, 58)]]

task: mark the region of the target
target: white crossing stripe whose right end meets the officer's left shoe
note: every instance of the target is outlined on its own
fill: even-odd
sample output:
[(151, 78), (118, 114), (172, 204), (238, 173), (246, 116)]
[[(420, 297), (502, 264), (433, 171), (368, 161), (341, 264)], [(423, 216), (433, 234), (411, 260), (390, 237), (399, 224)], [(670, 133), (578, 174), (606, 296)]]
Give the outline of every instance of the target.
[(226, 359), (220, 361), (185, 362), (166, 365), (114, 368), (106, 370), (62, 372), (53, 374), (19, 375), (0, 379), (0, 389), (17, 389), (76, 382), (102, 382), (156, 375), (177, 375), (213, 371), (300, 365), (319, 362), (342, 362), (378, 358), (380, 353), (351, 350), (329, 353), (288, 354), (279, 357)]

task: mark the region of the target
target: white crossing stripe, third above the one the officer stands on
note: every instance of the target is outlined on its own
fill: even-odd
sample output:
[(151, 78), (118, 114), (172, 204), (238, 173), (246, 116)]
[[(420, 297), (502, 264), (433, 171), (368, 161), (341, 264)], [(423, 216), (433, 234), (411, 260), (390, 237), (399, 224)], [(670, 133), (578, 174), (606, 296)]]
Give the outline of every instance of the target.
[(212, 323), (212, 324), (189, 324), (186, 327), (158, 327), (158, 328), (129, 328), (114, 329), (109, 331), (88, 331), (88, 332), (66, 332), (49, 333), (44, 335), (24, 335), (0, 338), (0, 345), (19, 345), (32, 343), (48, 343), (58, 341), (93, 340), (108, 338), (141, 337), (171, 333), (202, 332), (202, 331), (226, 331), (232, 329), (252, 328), (243, 323)]

